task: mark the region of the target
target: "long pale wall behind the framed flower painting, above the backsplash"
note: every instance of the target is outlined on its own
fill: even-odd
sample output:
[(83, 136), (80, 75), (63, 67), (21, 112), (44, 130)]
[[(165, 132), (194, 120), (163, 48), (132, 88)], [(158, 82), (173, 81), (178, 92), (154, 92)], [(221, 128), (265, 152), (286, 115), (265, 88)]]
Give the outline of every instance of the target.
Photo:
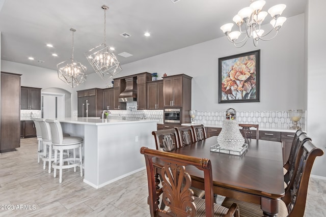
[[(271, 41), (248, 41), (235, 48), (225, 37), (196, 44), (122, 66), (122, 75), (157, 72), (159, 77), (187, 74), (192, 81), (192, 109), (306, 109), (304, 82), (304, 14), (290, 17)], [(269, 26), (268, 26), (269, 27)], [(219, 30), (216, 27), (216, 31)], [(260, 49), (260, 103), (218, 103), (218, 59)]]

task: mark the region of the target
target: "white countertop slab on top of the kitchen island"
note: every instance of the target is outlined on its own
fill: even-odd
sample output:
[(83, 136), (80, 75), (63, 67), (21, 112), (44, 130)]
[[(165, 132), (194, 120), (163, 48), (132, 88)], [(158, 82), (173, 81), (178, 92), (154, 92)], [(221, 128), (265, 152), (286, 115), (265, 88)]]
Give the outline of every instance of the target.
[(159, 120), (153, 119), (134, 119), (134, 120), (121, 120), (121, 119), (101, 119), (99, 117), (66, 117), (58, 119), (60, 122), (76, 123), (80, 125), (121, 125), (127, 123), (141, 123), (141, 122), (158, 122)]

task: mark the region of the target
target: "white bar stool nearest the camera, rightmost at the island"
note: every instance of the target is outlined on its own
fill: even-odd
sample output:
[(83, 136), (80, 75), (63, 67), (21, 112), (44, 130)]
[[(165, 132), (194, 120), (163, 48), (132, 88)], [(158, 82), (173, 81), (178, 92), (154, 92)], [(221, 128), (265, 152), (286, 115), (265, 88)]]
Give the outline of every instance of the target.
[[(80, 168), (80, 177), (83, 177), (83, 154), (82, 154), (82, 145), (83, 138), (69, 136), (64, 137), (62, 132), (62, 127), (58, 120), (46, 119), (46, 123), (49, 124), (51, 128), (52, 136), (52, 148), (55, 150), (55, 160), (52, 163), (54, 169), (54, 177), (57, 176), (57, 169), (59, 169), (59, 183), (62, 182), (62, 169), (74, 168), (76, 172), (76, 167)], [(76, 149), (79, 148), (79, 158), (76, 158)], [(73, 150), (73, 157), (63, 158), (64, 150)], [(59, 161), (58, 161), (58, 150), (59, 150)], [(67, 162), (67, 165), (64, 165), (64, 162)]]

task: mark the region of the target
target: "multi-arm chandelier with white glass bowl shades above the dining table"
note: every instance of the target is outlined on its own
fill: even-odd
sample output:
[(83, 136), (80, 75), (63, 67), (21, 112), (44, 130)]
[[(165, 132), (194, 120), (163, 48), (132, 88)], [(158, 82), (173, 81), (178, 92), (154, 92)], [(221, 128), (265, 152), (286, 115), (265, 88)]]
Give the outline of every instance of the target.
[[(253, 0), (251, 0), (251, 2), (252, 1)], [(262, 11), (265, 3), (265, 1), (261, 0), (252, 2), (250, 7), (242, 8), (238, 14), (233, 17), (233, 21), (239, 26), (239, 31), (231, 32), (233, 23), (227, 23), (221, 26), (223, 33), (235, 47), (242, 47), (251, 37), (254, 45), (257, 46), (259, 39), (262, 41), (269, 41), (277, 36), (279, 29), (286, 20), (285, 17), (280, 17), (283, 10), (286, 8), (286, 5), (275, 5), (268, 9), (268, 13), (272, 17), (271, 21), (269, 22), (272, 27), (265, 33), (265, 31), (261, 28), (261, 23), (267, 16), (267, 12)], [(267, 38), (267, 35), (269, 35), (271, 32), (275, 32), (273, 30), (276, 31), (274, 36)], [(243, 35), (243, 39), (238, 41), (241, 34)]]

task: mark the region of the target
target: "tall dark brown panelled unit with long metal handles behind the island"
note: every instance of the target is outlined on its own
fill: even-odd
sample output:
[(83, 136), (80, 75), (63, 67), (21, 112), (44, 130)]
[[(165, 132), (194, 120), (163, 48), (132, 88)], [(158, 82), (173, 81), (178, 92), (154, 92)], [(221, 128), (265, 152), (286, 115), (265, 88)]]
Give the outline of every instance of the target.
[(101, 117), (103, 89), (93, 88), (77, 91), (78, 117)]

